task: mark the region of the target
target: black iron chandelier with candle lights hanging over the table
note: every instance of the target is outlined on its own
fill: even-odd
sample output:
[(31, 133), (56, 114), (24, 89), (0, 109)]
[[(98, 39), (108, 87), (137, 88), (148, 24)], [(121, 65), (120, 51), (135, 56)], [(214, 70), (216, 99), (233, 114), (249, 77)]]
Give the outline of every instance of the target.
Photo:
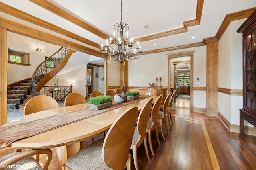
[[(121, 22), (116, 23), (114, 25), (114, 36), (113, 39), (110, 38), (106, 39), (106, 45), (103, 46), (101, 44), (101, 53), (103, 57), (106, 57), (107, 62), (111, 63), (111, 60), (119, 61), (120, 63), (125, 64), (125, 60), (132, 60), (135, 61), (135, 59), (138, 59), (140, 57), (140, 46), (139, 41), (137, 44), (134, 44), (133, 38), (129, 38), (128, 36), (128, 30), (129, 26), (126, 23), (122, 23), (122, 0), (121, 0)], [(126, 37), (124, 37), (124, 31), (126, 32)], [(116, 38), (116, 35), (119, 35), (118, 39)], [(125, 39), (124, 39), (125, 38)], [(105, 49), (103, 49), (103, 47)], [(109, 50), (108, 50), (109, 49)]]

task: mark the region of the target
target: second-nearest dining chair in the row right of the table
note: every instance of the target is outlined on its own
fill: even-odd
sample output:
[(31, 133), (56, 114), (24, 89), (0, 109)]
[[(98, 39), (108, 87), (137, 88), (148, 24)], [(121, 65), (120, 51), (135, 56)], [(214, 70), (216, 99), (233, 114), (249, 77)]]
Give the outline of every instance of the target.
[[(132, 137), (132, 145), (130, 149), (132, 149), (132, 156), (133, 156), (136, 170), (139, 169), (138, 158), (137, 158), (137, 148), (143, 143), (143, 141), (146, 141), (146, 129), (147, 129), (148, 118), (149, 118), (151, 107), (152, 107), (152, 102), (153, 102), (153, 98), (148, 100), (146, 104), (144, 104), (144, 106), (142, 107), (137, 120), (134, 135)], [(144, 147), (146, 150), (148, 161), (150, 161), (150, 158), (148, 155), (148, 146), (146, 142), (144, 142)]]

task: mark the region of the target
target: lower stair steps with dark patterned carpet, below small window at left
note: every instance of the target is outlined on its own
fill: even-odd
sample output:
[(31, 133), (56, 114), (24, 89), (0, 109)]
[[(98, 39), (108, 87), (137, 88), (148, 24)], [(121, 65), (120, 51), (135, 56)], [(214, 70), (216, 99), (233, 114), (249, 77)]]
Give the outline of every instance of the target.
[(32, 98), (32, 82), (31, 80), (22, 80), (8, 86), (7, 91), (7, 109), (24, 108), (26, 102)]

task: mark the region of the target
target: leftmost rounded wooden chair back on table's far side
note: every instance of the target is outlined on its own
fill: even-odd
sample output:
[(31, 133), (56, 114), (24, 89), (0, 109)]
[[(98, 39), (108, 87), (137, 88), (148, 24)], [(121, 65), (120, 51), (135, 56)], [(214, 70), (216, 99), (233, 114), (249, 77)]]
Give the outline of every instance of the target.
[(38, 111), (56, 109), (58, 107), (58, 102), (54, 98), (46, 95), (39, 95), (28, 100), (24, 107), (23, 114), (29, 115)]

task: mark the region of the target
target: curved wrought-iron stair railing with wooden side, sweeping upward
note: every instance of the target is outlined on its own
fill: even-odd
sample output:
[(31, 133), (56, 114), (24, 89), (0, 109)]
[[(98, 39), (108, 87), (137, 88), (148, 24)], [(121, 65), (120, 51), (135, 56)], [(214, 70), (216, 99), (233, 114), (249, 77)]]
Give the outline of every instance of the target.
[[(54, 53), (52, 56), (48, 57), (41, 64), (38, 65), (38, 67), (32, 74), (33, 96), (40, 95), (39, 91), (41, 90), (41, 88), (66, 65), (66, 62), (68, 61), (69, 57), (72, 55), (73, 52), (74, 50), (61, 47), (58, 51), (56, 51), (56, 53)], [(68, 56), (67, 59), (65, 59), (66, 56)], [(62, 61), (64, 60), (65, 64), (62, 64), (62, 66), (60, 67), (59, 64), (62, 63)], [(53, 74), (50, 74), (50, 76), (48, 76), (47, 79), (44, 80), (44, 84), (41, 84), (40, 87), (37, 88), (40, 80), (42, 80), (43, 78), (45, 79), (45, 76), (48, 75), (50, 72), (53, 72)]]

